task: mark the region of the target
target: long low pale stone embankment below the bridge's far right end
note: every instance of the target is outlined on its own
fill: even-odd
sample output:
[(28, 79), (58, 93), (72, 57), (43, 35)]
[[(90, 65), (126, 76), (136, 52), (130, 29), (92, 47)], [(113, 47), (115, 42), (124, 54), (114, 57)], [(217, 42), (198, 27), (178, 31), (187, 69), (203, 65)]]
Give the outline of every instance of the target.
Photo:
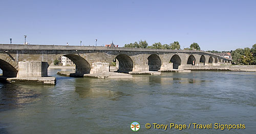
[(219, 65), (219, 66), (192, 66), (185, 65), (180, 68), (186, 70), (204, 70), (204, 71), (256, 71), (256, 65)]

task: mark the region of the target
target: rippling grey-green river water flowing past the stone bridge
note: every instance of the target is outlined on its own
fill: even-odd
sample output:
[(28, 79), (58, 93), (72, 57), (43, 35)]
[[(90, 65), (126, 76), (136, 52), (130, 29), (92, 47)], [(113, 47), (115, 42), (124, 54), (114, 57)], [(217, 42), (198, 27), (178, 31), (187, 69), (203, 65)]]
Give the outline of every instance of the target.
[[(65, 69), (62, 69), (62, 71)], [(58, 76), (56, 86), (0, 84), (0, 133), (254, 133), (256, 73), (193, 71), (133, 79)], [(151, 123), (151, 129), (145, 124)], [(153, 123), (168, 124), (154, 129)], [(245, 129), (170, 129), (170, 123)]]

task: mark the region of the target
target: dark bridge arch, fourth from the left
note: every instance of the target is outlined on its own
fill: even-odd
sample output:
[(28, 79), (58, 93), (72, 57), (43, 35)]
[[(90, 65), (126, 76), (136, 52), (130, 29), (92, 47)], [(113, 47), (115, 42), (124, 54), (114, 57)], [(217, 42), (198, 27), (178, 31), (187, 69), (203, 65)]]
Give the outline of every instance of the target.
[(150, 55), (148, 58), (148, 67), (150, 71), (158, 71), (161, 68), (162, 62), (158, 55)]

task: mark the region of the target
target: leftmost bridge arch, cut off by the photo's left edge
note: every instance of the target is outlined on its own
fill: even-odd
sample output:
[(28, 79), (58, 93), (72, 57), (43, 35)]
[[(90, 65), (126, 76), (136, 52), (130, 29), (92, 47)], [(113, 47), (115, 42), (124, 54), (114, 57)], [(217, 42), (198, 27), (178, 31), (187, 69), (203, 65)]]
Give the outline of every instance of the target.
[(18, 65), (10, 58), (0, 56), (0, 69), (3, 71), (3, 76), (16, 77), (18, 72)]

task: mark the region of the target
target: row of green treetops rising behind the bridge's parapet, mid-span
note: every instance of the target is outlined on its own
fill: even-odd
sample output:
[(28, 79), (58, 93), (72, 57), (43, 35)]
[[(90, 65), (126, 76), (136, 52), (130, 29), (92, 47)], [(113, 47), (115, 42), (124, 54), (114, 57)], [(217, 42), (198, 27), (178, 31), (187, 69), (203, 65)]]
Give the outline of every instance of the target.
[[(173, 43), (170, 44), (161, 44), (160, 42), (156, 42), (149, 46), (147, 42), (144, 40), (140, 40), (138, 42), (130, 43), (130, 44), (125, 44), (124, 47), (134, 47), (134, 48), (154, 48), (154, 49), (180, 49), (180, 43), (178, 41), (174, 41)], [(189, 48), (184, 48), (187, 50), (201, 50), (200, 46), (197, 43), (192, 43)]]

